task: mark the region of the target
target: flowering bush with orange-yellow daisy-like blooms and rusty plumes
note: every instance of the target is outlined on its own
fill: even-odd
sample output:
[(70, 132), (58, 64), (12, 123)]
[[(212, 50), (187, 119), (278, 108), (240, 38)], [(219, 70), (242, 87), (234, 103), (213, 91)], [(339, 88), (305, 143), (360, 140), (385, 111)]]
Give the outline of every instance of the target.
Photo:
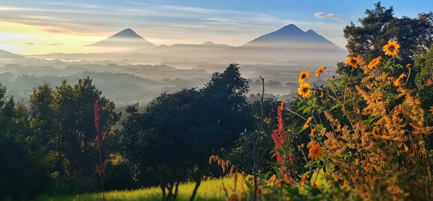
[[(270, 164), (275, 172), (259, 174), (259, 199), (433, 198), (433, 150), (426, 143), (433, 131), (426, 120), (431, 114), (422, 108), (417, 89), (406, 86), (412, 66), (398, 64), (400, 47), (397, 41), (383, 46), (388, 60), (377, 57), (365, 62), (361, 56), (348, 57), (346, 64), (352, 71), (363, 71), (360, 82), (352, 74), (326, 78), (326, 67), (321, 66), (315, 76), (323, 77), (326, 84), (313, 88), (308, 82), (310, 73), (301, 71), (300, 98), (292, 108), (301, 114), (284, 104), (278, 108), (278, 129), (271, 134), (276, 161)], [(397, 69), (404, 72), (392, 77)], [(295, 145), (296, 134), (284, 128), (282, 113), (287, 111), (303, 122), (295, 130), (308, 134), (306, 145)], [(295, 156), (296, 150), (302, 156)], [(254, 189), (248, 180), (246, 185)]]

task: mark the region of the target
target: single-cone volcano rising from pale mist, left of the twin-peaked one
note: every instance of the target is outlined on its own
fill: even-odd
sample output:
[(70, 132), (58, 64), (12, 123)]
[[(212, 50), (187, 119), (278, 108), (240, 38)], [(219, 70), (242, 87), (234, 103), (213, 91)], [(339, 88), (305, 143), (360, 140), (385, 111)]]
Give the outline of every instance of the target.
[(142, 38), (132, 29), (125, 29), (113, 36), (97, 43), (85, 45), (90, 47), (126, 47), (126, 48), (149, 48), (156, 47), (153, 43)]

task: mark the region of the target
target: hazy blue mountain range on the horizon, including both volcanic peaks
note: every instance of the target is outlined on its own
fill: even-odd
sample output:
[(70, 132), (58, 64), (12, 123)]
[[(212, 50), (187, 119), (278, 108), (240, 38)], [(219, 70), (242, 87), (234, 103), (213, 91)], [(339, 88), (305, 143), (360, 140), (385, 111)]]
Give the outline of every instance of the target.
[[(314, 46), (311, 46), (314, 45)], [(128, 47), (130, 51), (125, 53), (167, 53), (177, 51), (212, 51), (227, 48), (235, 48), (226, 44), (215, 44), (211, 41), (202, 44), (174, 44), (156, 46), (148, 40), (142, 38), (132, 29), (125, 29), (113, 36), (97, 43), (86, 46), (106, 46), (106, 47)], [(323, 49), (326, 51), (344, 51), (325, 37), (312, 30), (306, 32), (299, 29), (295, 24), (289, 24), (283, 28), (264, 34), (239, 48), (277, 48), (291, 51), (293, 49)]]

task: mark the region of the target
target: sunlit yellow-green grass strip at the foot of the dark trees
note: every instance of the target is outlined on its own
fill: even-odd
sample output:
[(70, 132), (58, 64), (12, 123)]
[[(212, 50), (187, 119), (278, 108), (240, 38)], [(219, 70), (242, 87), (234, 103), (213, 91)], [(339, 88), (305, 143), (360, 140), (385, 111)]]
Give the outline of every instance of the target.
[[(233, 186), (231, 178), (223, 179), (225, 187), (228, 189)], [(185, 183), (179, 185), (178, 200), (189, 200), (193, 193), (195, 183)], [(221, 179), (202, 181), (195, 200), (226, 200), (225, 193), (222, 190), (223, 184)], [(139, 190), (111, 191), (105, 193), (105, 200), (161, 200), (162, 191), (159, 187), (152, 187)], [(102, 200), (101, 193), (78, 194), (78, 195), (54, 195), (41, 196), (34, 201), (93, 201)]]

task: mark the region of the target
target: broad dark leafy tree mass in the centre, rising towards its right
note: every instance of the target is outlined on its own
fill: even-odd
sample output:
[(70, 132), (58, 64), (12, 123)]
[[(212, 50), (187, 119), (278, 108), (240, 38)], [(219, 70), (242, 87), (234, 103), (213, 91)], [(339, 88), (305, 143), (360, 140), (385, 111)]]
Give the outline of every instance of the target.
[(176, 198), (180, 182), (194, 180), (193, 199), (208, 173), (208, 158), (229, 153), (251, 126), (247, 92), (247, 81), (230, 64), (223, 73), (213, 73), (202, 89), (162, 93), (146, 113), (130, 107), (121, 132), (125, 158), (137, 174), (157, 173), (167, 199)]

